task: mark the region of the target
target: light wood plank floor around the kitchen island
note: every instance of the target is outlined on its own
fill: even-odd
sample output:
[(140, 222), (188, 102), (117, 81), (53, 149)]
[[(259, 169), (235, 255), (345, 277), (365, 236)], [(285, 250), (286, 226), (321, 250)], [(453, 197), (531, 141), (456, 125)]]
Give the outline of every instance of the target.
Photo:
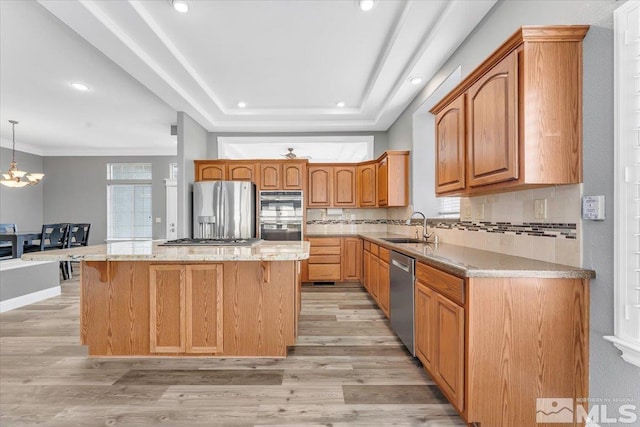
[(359, 286), (305, 287), (286, 359), (98, 359), (78, 281), (0, 315), (0, 425), (464, 425)]

